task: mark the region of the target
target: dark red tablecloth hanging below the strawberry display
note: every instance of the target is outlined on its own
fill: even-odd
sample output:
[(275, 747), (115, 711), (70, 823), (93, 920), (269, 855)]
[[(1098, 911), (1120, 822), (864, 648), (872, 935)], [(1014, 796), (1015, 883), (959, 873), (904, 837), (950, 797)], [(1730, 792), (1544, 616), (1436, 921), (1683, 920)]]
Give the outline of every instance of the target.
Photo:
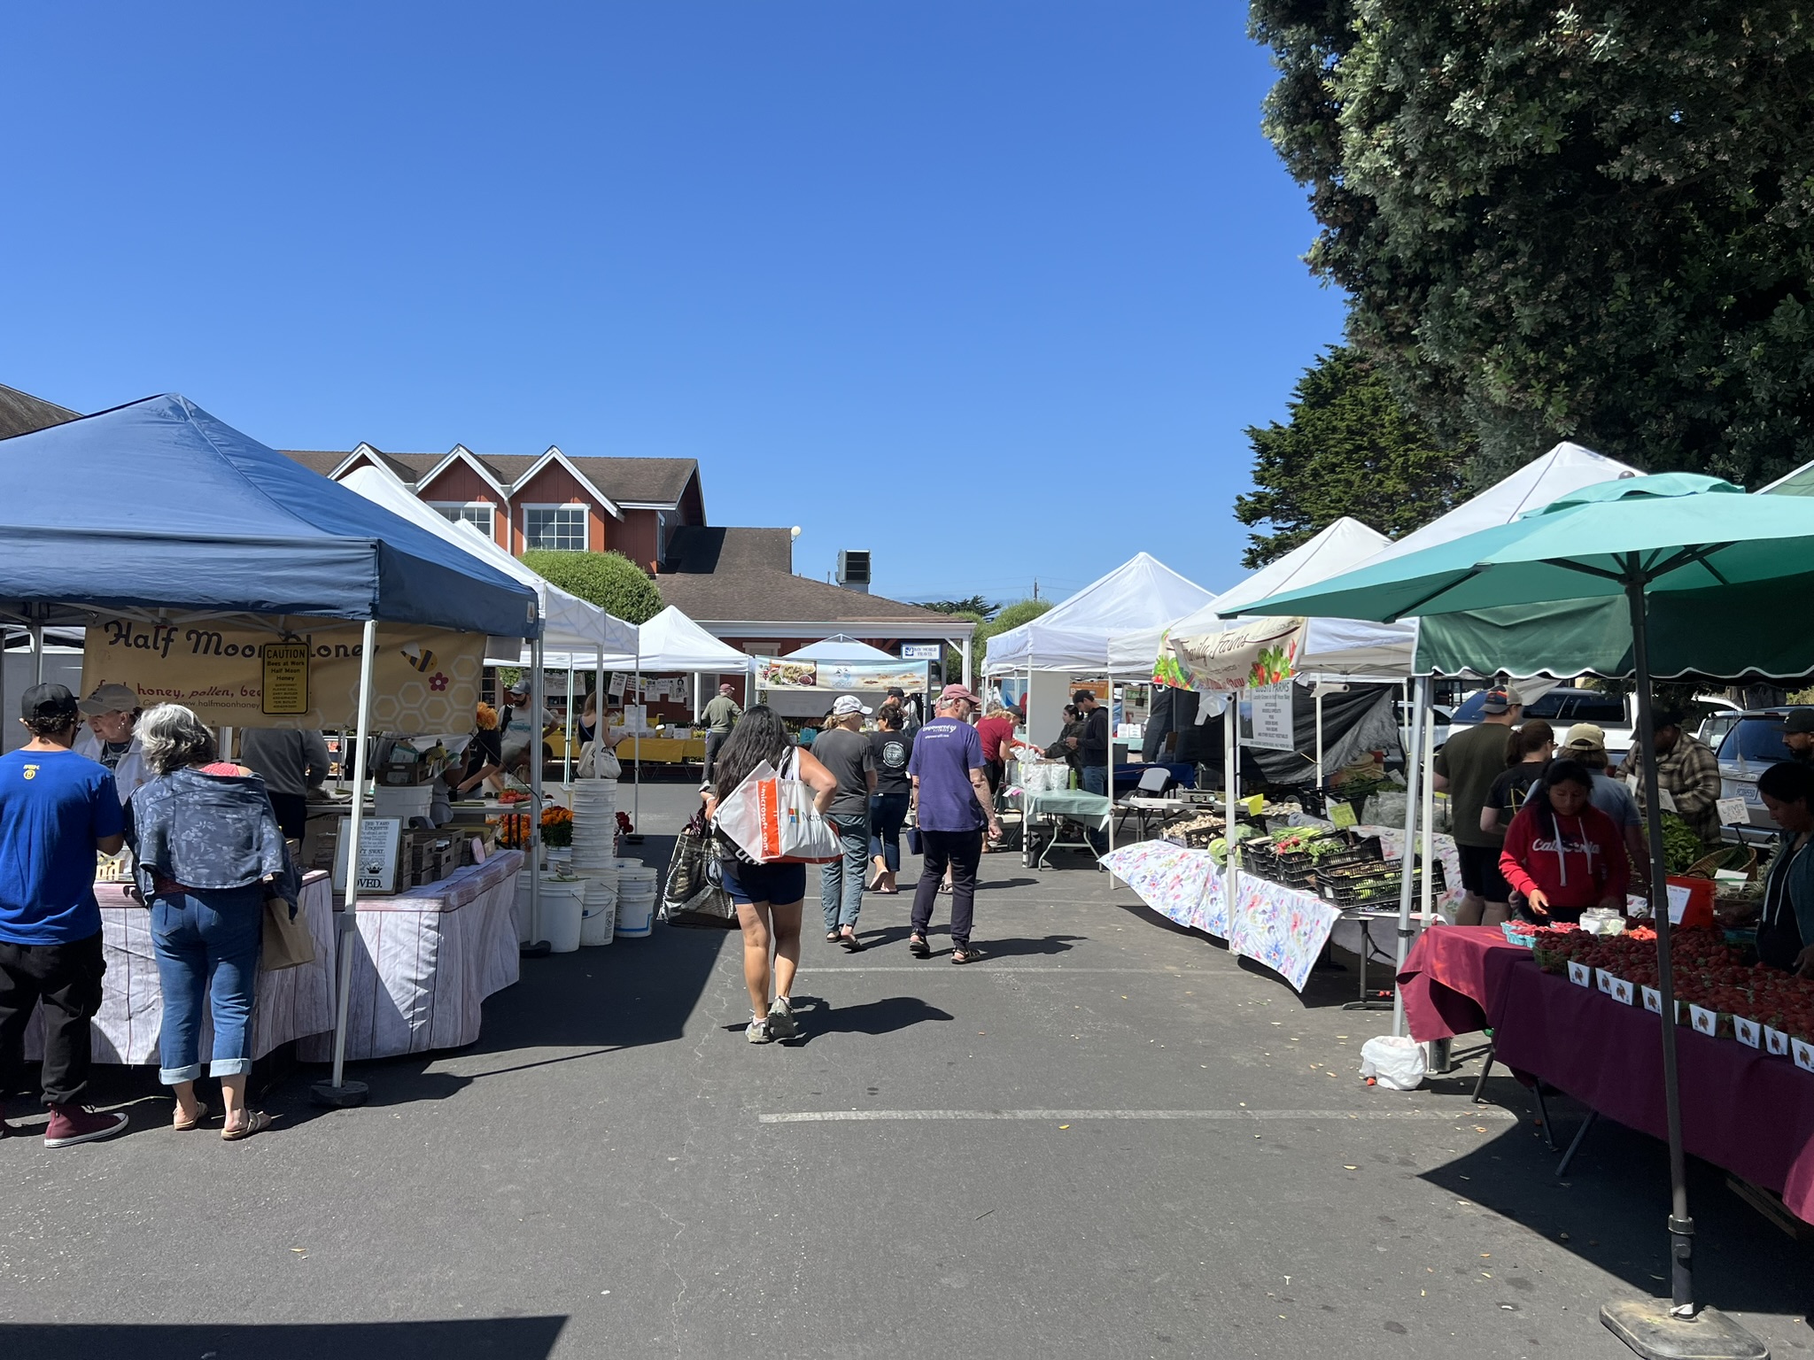
[[(1426, 930), (1404, 967), (1413, 1037), (1489, 1023), (1497, 1061), (1627, 1128), (1667, 1135), (1662, 1021), (1642, 1005), (1546, 974), (1529, 950), (1487, 928)], [(1466, 1026), (1469, 1008), (1477, 1023)], [(1676, 1061), (1683, 1146), (1780, 1191), (1790, 1213), (1814, 1222), (1814, 1073), (1685, 1025)]]

